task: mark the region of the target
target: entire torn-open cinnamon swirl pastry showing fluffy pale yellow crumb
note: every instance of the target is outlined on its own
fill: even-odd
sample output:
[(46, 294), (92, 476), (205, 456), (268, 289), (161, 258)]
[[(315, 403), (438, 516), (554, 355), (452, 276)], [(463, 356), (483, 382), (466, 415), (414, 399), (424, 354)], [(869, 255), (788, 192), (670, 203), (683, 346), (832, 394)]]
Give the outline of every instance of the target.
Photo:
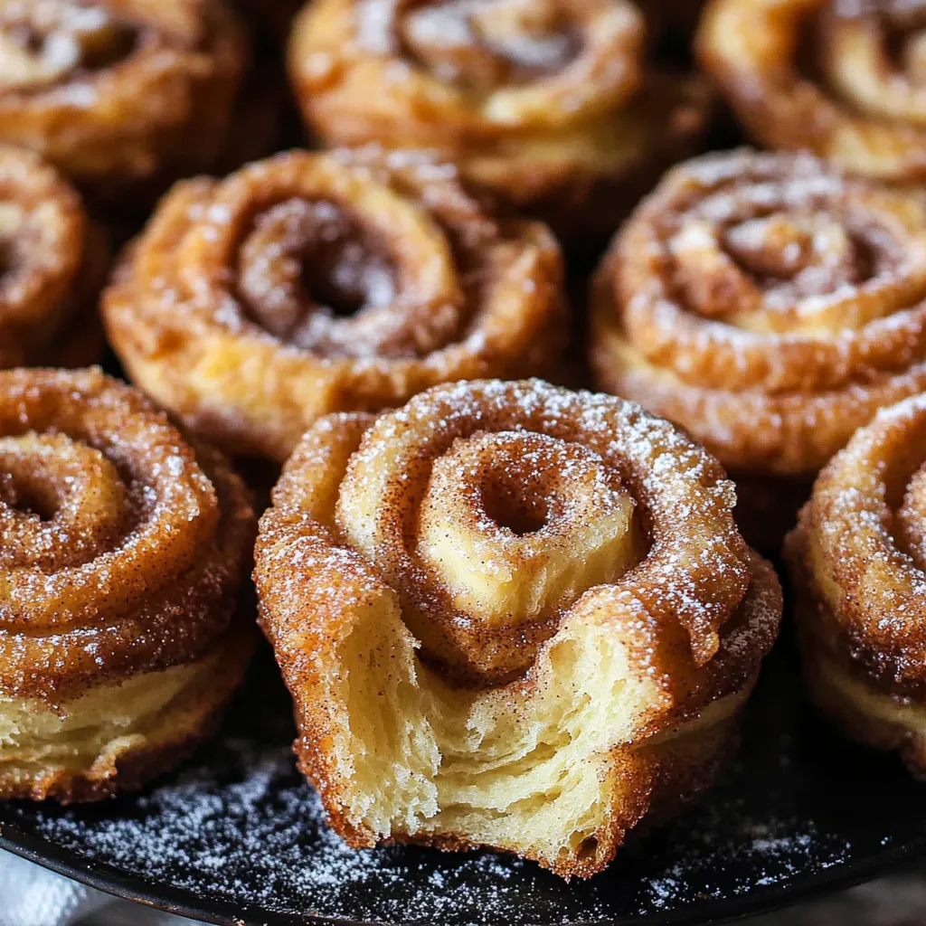
[(464, 382), (332, 415), (273, 503), (261, 623), (355, 846), (602, 870), (712, 780), (781, 618), (720, 465), (610, 396)]

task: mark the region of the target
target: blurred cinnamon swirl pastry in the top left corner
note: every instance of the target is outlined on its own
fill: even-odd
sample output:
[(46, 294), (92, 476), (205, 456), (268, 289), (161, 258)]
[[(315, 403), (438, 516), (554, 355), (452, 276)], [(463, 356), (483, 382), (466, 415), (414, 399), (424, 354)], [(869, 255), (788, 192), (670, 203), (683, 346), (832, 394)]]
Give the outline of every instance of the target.
[(3, 0), (0, 142), (121, 197), (210, 165), (243, 67), (219, 0)]

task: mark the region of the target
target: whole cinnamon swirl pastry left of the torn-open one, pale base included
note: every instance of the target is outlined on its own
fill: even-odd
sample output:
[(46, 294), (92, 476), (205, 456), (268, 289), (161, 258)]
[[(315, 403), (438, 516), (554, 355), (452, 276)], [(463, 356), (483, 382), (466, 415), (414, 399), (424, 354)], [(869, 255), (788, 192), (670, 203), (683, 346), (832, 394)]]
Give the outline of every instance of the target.
[(137, 786), (244, 673), (243, 483), (97, 369), (0, 372), (0, 434), (0, 797)]

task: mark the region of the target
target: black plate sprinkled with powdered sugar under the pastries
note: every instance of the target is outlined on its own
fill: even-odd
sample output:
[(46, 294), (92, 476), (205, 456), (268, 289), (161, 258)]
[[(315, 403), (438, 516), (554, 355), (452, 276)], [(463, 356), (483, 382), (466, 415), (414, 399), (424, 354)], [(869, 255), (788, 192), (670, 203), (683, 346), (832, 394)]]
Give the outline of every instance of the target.
[(346, 849), (294, 770), (266, 654), (222, 735), (178, 775), (103, 805), (0, 807), (0, 845), (219, 923), (697, 923), (778, 907), (926, 854), (926, 788), (814, 718), (789, 650), (770, 658), (724, 780), (587, 882), (491, 853)]

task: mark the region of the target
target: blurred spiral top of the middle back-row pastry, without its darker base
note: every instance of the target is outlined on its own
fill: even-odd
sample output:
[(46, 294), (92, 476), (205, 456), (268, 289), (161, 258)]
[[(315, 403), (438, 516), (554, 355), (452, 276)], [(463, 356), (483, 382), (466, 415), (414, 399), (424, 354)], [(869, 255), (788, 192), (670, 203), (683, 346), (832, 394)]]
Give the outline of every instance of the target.
[[(337, 103), (354, 110), (349, 135), (366, 134), (362, 122), (379, 113), (384, 144), (440, 145), (619, 106), (641, 81), (642, 46), (642, 18), (626, 0), (322, 0), (296, 27), (291, 67), (315, 106), (341, 84)], [(375, 97), (349, 93), (374, 85)]]

